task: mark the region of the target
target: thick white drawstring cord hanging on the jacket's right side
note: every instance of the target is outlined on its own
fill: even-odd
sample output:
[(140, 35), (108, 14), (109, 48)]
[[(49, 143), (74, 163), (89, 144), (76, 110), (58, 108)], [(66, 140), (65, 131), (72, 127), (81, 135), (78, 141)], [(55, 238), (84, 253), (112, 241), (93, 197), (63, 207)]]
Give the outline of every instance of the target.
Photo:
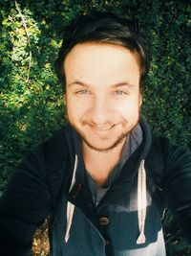
[(144, 244), (146, 241), (144, 235), (144, 226), (146, 219), (146, 172), (144, 169), (144, 160), (141, 161), (138, 168), (138, 229), (139, 236), (137, 244)]

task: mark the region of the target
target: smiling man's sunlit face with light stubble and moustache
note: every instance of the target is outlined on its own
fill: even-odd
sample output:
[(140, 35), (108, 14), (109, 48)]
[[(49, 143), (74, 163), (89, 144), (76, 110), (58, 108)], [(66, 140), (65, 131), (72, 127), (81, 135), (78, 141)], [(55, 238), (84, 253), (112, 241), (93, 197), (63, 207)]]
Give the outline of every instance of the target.
[(83, 143), (110, 151), (138, 123), (138, 60), (111, 43), (77, 44), (64, 63), (68, 120)]

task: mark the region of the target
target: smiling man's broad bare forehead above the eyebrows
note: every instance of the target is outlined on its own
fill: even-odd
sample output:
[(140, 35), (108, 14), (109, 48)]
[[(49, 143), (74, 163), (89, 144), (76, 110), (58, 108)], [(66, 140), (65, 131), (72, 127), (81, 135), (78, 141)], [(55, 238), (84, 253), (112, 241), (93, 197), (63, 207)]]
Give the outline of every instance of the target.
[(66, 81), (117, 83), (139, 79), (138, 59), (123, 46), (112, 43), (77, 44), (64, 62)]

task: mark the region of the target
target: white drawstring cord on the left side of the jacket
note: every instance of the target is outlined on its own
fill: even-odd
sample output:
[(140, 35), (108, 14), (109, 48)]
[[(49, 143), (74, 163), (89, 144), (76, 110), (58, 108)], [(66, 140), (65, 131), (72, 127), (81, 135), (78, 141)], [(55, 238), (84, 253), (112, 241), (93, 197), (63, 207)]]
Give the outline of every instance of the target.
[[(71, 187), (69, 189), (69, 192), (71, 192), (71, 190), (74, 187), (74, 183), (75, 183), (75, 173), (77, 170), (77, 155), (75, 154), (75, 158), (74, 158), (74, 172), (73, 172), (73, 178), (72, 178), (72, 182), (71, 182)], [(71, 225), (72, 225), (72, 221), (73, 221), (73, 216), (74, 216), (74, 204), (70, 201), (67, 202), (67, 224), (66, 224), (66, 233), (65, 233), (65, 242), (67, 243), (69, 238), (70, 238), (70, 230), (71, 230)]]

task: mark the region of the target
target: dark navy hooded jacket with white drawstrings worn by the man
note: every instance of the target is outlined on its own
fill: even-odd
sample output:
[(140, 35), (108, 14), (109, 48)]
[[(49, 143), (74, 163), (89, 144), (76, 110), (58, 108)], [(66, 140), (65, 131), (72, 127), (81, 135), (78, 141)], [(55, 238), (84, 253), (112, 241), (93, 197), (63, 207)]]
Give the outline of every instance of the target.
[(0, 202), (0, 255), (27, 255), (50, 217), (53, 256), (165, 255), (161, 213), (168, 206), (191, 241), (191, 153), (154, 136), (143, 140), (95, 207), (74, 130), (58, 131), (33, 150)]

